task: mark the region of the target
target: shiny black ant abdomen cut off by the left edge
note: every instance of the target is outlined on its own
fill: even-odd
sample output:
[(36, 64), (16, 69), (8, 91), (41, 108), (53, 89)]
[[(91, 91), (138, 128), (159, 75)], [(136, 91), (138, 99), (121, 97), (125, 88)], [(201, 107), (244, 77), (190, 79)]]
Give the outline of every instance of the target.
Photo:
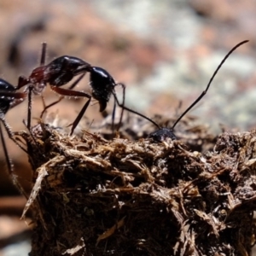
[(0, 79), (0, 111), (7, 113), (14, 98), (12, 96), (6, 96), (4, 92), (15, 92), (15, 87), (7, 81)]

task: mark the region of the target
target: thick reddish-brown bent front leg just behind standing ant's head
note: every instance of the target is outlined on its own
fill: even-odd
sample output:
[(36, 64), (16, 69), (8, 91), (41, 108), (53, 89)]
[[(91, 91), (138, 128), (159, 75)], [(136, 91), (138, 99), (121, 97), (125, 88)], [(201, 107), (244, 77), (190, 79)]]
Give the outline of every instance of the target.
[(73, 131), (75, 130), (77, 125), (79, 125), (79, 121), (82, 119), (86, 109), (88, 108), (88, 106), (90, 104), (91, 95), (88, 94), (88, 93), (85, 93), (83, 91), (62, 89), (62, 88), (56, 87), (56, 86), (51, 86), (51, 90), (54, 90), (58, 94), (61, 94), (61, 96), (73, 96), (73, 97), (85, 97), (85, 98), (88, 98), (88, 101), (85, 102), (84, 107), (79, 112), (79, 115), (77, 116), (77, 118), (71, 124), (72, 125), (71, 131), (70, 131), (70, 136), (71, 136), (71, 135), (73, 135)]

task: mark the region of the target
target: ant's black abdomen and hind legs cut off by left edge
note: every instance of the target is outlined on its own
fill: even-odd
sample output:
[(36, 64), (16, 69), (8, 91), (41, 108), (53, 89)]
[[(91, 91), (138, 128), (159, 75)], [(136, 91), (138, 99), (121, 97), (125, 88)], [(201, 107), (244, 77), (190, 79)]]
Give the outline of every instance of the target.
[[(5, 120), (5, 114), (9, 111), (9, 108), (13, 108), (16, 105), (20, 104), (26, 98), (26, 93), (24, 92), (16, 92), (15, 86), (9, 84), (7, 81), (0, 79), (0, 119), (3, 123), (5, 130), (9, 138), (19, 146), (24, 152), (27, 153), (26, 149), (23, 148), (17, 141), (15, 140), (14, 133), (11, 131), (8, 123)], [(26, 195), (20, 183), (18, 182), (15, 173), (14, 173), (14, 166), (9, 159), (8, 150), (5, 144), (5, 140), (3, 137), (2, 125), (0, 124), (0, 137), (3, 145), (3, 154), (5, 156), (7, 167), (9, 171), (9, 176), (12, 177), (13, 182), (15, 183), (16, 187), (20, 190), (23, 195)]]

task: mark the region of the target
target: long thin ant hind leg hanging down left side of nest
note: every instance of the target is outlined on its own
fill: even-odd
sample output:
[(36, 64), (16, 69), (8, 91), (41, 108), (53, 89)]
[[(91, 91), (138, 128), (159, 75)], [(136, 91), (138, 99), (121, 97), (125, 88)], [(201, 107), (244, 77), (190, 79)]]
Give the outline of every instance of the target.
[(12, 161), (9, 158), (9, 154), (8, 154), (8, 150), (5, 144), (5, 140), (3, 137), (3, 130), (2, 130), (2, 125), (0, 124), (0, 137), (1, 137), (1, 141), (2, 141), (2, 145), (3, 145), (3, 154), (5, 156), (5, 160), (7, 163), (7, 168), (8, 168), (8, 173), (9, 173), (9, 177), (12, 178), (12, 182), (15, 184), (15, 187), (17, 189), (19, 189), (20, 194), (24, 195), (26, 197), (26, 199), (28, 199), (25, 190), (22, 188), (22, 186), (20, 185), (16, 175), (15, 175), (15, 171), (14, 171), (14, 165), (12, 163)]

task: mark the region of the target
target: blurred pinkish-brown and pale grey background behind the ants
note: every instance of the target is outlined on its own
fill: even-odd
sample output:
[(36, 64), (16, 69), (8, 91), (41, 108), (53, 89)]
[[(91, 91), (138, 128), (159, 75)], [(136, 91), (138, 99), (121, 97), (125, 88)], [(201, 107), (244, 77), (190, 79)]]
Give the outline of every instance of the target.
[[(247, 131), (256, 125), (255, 25), (253, 0), (1, 0), (0, 77), (16, 85), (20, 75), (29, 76), (47, 42), (47, 63), (72, 55), (103, 67), (126, 85), (126, 106), (149, 117), (172, 117), (180, 101), (182, 113), (205, 90), (224, 55), (248, 39), (191, 111), (216, 134), (221, 125)], [(77, 90), (90, 91), (88, 78)], [(58, 98), (48, 89), (44, 95), (48, 103)], [(65, 99), (50, 111), (71, 123), (83, 104), (83, 99)], [(6, 115), (13, 131), (26, 130), (26, 108), (25, 101)], [(101, 119), (98, 109), (97, 104), (90, 107), (86, 117)], [(42, 110), (40, 97), (34, 96), (32, 117)], [(6, 140), (15, 172), (29, 189), (32, 172), (26, 154)], [(19, 219), (26, 201), (9, 181), (3, 156), (1, 163), (0, 256), (27, 255), (30, 232)]]

